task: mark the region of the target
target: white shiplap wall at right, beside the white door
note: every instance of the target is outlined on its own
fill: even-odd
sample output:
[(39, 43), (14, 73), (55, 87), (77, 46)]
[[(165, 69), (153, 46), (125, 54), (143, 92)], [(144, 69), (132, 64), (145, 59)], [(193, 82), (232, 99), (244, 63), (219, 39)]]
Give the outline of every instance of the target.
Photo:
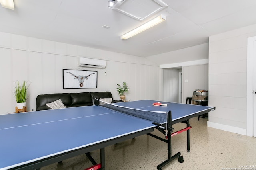
[(251, 25), (210, 37), (209, 127), (246, 135), (247, 38), (255, 35)]

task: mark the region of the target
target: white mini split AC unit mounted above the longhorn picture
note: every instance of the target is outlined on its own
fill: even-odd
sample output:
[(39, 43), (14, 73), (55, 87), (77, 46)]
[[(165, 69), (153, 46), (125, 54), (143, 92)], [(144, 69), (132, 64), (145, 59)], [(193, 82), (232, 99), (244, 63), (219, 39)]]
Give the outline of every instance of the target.
[(84, 57), (78, 57), (78, 66), (81, 67), (94, 67), (94, 68), (105, 68), (106, 61), (98, 59), (88, 59)]

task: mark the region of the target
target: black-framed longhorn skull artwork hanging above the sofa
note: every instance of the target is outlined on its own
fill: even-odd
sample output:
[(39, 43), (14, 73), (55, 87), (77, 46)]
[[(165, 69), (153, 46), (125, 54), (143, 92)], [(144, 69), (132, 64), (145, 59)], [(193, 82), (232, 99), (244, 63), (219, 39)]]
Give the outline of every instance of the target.
[(63, 69), (63, 89), (97, 88), (97, 71)]

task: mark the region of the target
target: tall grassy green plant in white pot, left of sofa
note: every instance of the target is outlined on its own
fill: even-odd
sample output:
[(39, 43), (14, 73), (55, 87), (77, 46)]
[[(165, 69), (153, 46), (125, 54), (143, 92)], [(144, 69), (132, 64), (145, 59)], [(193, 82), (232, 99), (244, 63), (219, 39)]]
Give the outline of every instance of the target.
[(16, 82), (14, 96), (17, 102), (17, 108), (22, 109), (23, 106), (26, 106), (27, 100), (27, 90), (30, 84), (27, 85), (27, 82), (24, 81), (22, 85), (19, 81)]

